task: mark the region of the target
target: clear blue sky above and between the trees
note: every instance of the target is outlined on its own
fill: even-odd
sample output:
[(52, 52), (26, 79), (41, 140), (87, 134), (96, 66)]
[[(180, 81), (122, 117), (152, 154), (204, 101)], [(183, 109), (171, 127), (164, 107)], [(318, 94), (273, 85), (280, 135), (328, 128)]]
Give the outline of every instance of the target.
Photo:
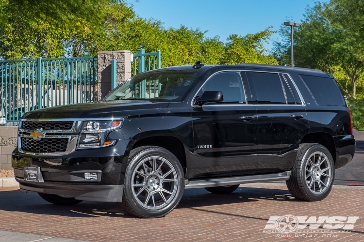
[[(273, 26), (279, 30), (287, 19), (300, 23), (306, 7), (316, 0), (139, 0), (131, 2), (135, 13), (143, 18), (160, 19), (165, 27), (208, 30), (206, 36), (220, 36), (226, 41), (230, 34), (246, 35)], [(289, 27), (287, 27), (289, 28)], [(269, 44), (280, 40), (273, 34)]]

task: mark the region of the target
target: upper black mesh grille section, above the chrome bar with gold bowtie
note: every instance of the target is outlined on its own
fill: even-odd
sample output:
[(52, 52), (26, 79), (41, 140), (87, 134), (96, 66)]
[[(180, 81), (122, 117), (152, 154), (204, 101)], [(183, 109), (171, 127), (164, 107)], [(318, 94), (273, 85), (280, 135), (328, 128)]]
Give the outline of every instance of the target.
[(22, 121), (21, 128), (27, 130), (70, 130), (73, 121)]

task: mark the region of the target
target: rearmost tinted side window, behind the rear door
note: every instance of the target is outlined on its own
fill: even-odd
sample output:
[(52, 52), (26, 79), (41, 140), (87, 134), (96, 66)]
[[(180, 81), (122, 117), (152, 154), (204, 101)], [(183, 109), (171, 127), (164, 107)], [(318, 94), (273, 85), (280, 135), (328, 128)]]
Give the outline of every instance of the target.
[(344, 98), (335, 80), (319, 76), (300, 75), (311, 91), (318, 105), (345, 106)]

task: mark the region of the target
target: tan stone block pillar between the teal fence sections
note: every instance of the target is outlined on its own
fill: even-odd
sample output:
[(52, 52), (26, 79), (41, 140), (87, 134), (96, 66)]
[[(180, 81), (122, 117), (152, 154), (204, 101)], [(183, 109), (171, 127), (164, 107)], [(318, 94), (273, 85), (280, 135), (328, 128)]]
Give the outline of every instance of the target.
[(116, 60), (116, 84), (119, 85), (132, 76), (130, 50), (98, 52), (98, 87), (96, 99), (100, 100), (111, 91), (111, 60)]

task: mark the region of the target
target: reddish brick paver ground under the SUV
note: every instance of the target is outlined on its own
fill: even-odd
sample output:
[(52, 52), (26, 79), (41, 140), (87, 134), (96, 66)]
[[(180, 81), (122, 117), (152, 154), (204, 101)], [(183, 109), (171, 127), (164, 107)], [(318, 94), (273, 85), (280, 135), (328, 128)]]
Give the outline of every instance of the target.
[[(284, 234), (263, 232), (270, 216), (285, 214), (359, 216), (359, 219), (354, 229), (345, 233), (297, 234), (308, 236), (305, 238), (295, 238), (292, 233), (287, 238), (281, 237), (286, 236)], [(329, 197), (320, 202), (294, 199), (285, 184), (279, 183), (246, 184), (227, 195), (188, 189), (180, 205), (159, 219), (133, 217), (117, 203), (84, 201), (71, 207), (55, 206), (33, 192), (23, 194), (18, 190), (0, 188), (0, 230), (94, 242), (359, 242), (364, 241), (364, 187), (334, 186)], [(331, 238), (326, 238), (328, 235)]]

